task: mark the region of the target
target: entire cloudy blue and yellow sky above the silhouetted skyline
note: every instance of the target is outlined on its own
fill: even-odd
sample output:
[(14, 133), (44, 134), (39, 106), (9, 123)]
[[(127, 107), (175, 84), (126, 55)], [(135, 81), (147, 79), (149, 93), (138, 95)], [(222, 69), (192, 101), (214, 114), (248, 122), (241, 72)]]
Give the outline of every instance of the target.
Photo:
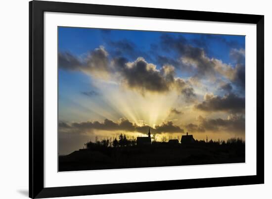
[(149, 127), (245, 139), (245, 36), (58, 27), (59, 154)]

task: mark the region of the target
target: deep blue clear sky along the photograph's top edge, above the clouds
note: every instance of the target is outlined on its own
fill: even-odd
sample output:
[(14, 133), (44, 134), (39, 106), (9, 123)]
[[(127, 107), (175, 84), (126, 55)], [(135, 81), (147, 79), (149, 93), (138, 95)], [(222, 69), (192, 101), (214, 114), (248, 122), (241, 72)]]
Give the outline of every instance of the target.
[[(173, 37), (182, 36), (196, 47), (204, 49), (208, 47), (208, 56), (219, 58), (225, 63), (233, 63), (233, 60), (229, 57), (229, 51), (232, 48), (245, 47), (244, 36), (59, 27), (58, 48), (59, 51), (70, 51), (76, 55), (81, 55), (100, 45), (110, 51), (113, 47), (108, 45), (108, 40), (115, 42), (127, 40), (135, 45), (136, 50), (149, 52), (152, 50), (152, 45), (157, 45), (160, 42), (160, 37), (165, 34)], [(158, 54), (165, 54), (165, 51), (160, 48), (157, 48), (156, 51)], [(129, 56), (126, 52), (124, 52), (124, 55)], [(152, 55), (150, 56), (152, 57)], [(144, 58), (151, 61), (148, 60), (148, 57)]]

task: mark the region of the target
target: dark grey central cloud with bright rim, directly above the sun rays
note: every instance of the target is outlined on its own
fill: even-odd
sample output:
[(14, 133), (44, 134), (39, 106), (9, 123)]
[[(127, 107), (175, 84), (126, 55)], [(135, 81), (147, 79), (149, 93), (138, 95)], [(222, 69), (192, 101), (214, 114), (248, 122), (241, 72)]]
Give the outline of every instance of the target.
[(144, 95), (145, 92), (165, 93), (176, 89), (186, 99), (195, 97), (193, 88), (181, 78), (175, 78), (175, 67), (164, 65), (160, 70), (144, 58), (138, 57), (134, 62), (127, 62), (124, 57), (113, 60), (115, 69), (120, 73), (121, 82), (127, 88)]

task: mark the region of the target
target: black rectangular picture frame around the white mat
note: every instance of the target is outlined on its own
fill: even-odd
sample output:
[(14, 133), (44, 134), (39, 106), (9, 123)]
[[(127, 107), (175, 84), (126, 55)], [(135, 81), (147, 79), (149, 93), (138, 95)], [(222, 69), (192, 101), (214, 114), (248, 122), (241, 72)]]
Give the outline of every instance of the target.
[[(256, 175), (70, 187), (44, 187), (44, 12), (119, 15), (257, 25)], [(258, 133), (257, 133), (258, 132)], [(264, 16), (70, 2), (29, 2), (29, 197), (51, 198), (264, 183)]]

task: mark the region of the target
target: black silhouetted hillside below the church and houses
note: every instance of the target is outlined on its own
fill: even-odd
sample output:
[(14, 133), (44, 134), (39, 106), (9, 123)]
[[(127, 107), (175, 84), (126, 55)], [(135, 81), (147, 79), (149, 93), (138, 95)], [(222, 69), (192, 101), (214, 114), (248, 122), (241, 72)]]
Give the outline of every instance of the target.
[(243, 162), (245, 162), (245, 143), (235, 138), (229, 139), (226, 143), (225, 141), (184, 143), (183, 138), (183, 144), (182, 140), (181, 144), (178, 140), (170, 140), (152, 142), (149, 145), (115, 145), (114, 147), (89, 142), (87, 149), (79, 149), (69, 155), (59, 156), (58, 171)]

